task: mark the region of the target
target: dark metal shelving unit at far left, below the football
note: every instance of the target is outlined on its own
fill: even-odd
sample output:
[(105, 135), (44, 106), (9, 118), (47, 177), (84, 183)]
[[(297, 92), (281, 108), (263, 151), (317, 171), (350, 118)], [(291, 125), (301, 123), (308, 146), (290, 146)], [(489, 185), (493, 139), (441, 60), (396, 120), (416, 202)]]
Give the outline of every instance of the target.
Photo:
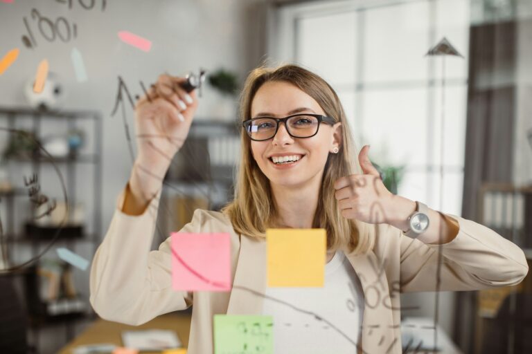
[[(92, 216), (90, 220), (86, 219), (84, 221), (84, 225), (91, 225), (91, 231), (87, 232), (87, 227), (84, 227), (82, 236), (76, 238), (71, 238), (67, 234), (59, 234), (57, 237), (57, 242), (66, 244), (67, 248), (73, 250), (73, 252), (76, 252), (76, 244), (90, 243), (92, 246), (91, 254), (94, 254), (94, 252), (96, 252), (96, 248), (98, 248), (98, 244), (100, 243), (102, 233), (101, 210), (103, 197), (103, 125), (100, 113), (96, 111), (34, 111), (24, 107), (0, 108), (0, 128), (3, 128), (3, 131), (6, 131), (6, 129), (9, 129), (10, 131), (13, 129), (30, 131), (37, 140), (42, 138), (42, 132), (46, 128), (46, 124), (56, 124), (60, 127), (64, 127), (64, 129), (67, 131), (71, 131), (80, 129), (79, 126), (81, 121), (83, 121), (83, 124), (90, 124), (91, 126), (91, 129), (84, 131), (87, 140), (91, 140), (91, 151), (88, 153), (84, 152), (78, 156), (72, 155), (65, 158), (54, 158), (53, 162), (61, 170), (64, 186), (67, 190), (69, 205), (76, 205), (78, 202), (83, 202), (85, 205), (87, 205), (87, 209), (91, 210)], [(24, 168), (27, 168), (27, 164), (30, 164), (31, 174), (37, 174), (37, 176), (41, 176), (43, 171), (51, 169), (53, 166), (49, 158), (43, 158), (42, 156), (35, 155), (28, 158), (10, 158), (8, 159), (7, 169), (10, 171), (12, 169), (16, 169), (17, 166), (24, 166)], [(84, 177), (91, 178), (92, 180), (91, 201), (78, 200), (76, 197), (76, 191), (78, 188), (80, 188), (78, 185), (78, 179), (80, 179), (78, 175), (78, 166), (80, 165), (92, 167), (92, 173), (84, 175)], [(28, 235), (25, 232), (24, 227), (20, 225), (19, 221), (16, 221), (16, 207), (20, 205), (28, 205), (28, 207), (30, 206), (30, 201), (28, 200), (28, 189), (25, 189), (24, 186), (17, 185), (17, 187), (14, 189), (0, 192), (0, 201), (0, 208), (5, 209), (6, 215), (6, 219), (3, 222), (3, 240), (6, 243), (8, 254), (10, 252), (19, 251), (20, 248), (30, 248), (31, 257), (36, 257), (39, 253), (39, 248), (42, 248), (42, 246), (46, 245), (46, 243), (50, 243), (51, 240), (48, 238), (38, 239), (35, 236), (32, 237), (31, 235)], [(38, 333), (40, 328), (50, 324), (65, 324), (68, 341), (71, 339), (71, 337), (73, 337), (73, 326), (71, 326), (73, 321), (86, 318), (87, 316), (73, 316), (73, 314), (65, 314), (59, 315), (57, 317), (50, 317), (47, 315), (38, 315), (33, 313), (35, 308), (42, 308), (43, 303), (38, 303), (38, 288), (31, 290), (33, 292), (37, 291), (37, 297), (28, 292), (28, 287), (32, 286), (28, 286), (28, 274), (30, 274), (30, 272), (23, 271), (17, 272), (15, 274), (7, 274), (7, 276), (12, 275), (18, 279), (24, 279), (24, 281), (20, 283), (20, 286), (22, 287), (22, 292), (26, 298), (26, 304), (28, 304), (28, 324), (33, 332), (33, 347), (38, 352)], [(3, 276), (6, 276), (6, 274), (3, 274)], [(33, 274), (33, 276), (36, 276), (36, 273)], [(30, 297), (33, 298), (30, 299)], [(87, 308), (90, 308), (88, 299), (86, 300)], [(34, 304), (35, 302), (37, 302), (37, 304)]]

